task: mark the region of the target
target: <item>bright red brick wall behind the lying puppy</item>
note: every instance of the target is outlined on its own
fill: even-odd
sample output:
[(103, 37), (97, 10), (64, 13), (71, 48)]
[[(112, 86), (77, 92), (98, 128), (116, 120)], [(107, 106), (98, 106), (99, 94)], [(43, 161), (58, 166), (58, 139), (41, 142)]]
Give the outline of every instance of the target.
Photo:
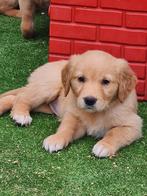
[(51, 0), (49, 60), (100, 49), (125, 58), (147, 100), (147, 0)]

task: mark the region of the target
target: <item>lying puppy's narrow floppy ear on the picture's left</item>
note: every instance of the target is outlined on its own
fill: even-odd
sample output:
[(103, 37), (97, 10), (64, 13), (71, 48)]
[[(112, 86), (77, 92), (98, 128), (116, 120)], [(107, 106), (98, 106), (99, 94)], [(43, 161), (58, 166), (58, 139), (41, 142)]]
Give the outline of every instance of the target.
[(64, 87), (65, 97), (67, 96), (70, 90), (70, 79), (71, 79), (70, 64), (68, 63), (62, 70), (62, 84)]

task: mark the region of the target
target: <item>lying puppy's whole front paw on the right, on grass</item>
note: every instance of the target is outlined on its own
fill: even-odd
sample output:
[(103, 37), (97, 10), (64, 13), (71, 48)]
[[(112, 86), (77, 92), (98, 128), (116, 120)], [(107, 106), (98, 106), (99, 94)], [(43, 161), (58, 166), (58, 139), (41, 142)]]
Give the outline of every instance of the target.
[(106, 142), (100, 141), (94, 145), (92, 153), (97, 157), (109, 157), (115, 154), (115, 150)]

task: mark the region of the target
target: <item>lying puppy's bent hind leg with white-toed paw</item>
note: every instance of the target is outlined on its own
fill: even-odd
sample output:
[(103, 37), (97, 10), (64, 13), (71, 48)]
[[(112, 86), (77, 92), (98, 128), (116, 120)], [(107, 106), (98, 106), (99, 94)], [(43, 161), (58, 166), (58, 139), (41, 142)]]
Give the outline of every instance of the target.
[[(40, 86), (39, 86), (40, 85)], [(11, 117), (16, 123), (21, 125), (29, 125), (32, 122), (30, 111), (36, 109), (43, 103), (54, 100), (60, 92), (60, 88), (55, 85), (28, 84), (24, 87), (22, 93), (19, 93), (15, 99), (11, 111)]]

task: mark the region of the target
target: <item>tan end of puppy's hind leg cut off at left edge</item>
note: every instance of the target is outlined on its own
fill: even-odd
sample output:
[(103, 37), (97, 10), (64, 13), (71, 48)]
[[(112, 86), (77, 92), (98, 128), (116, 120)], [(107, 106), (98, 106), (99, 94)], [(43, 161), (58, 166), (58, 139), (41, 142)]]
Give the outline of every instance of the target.
[(0, 115), (12, 109), (15, 98), (15, 95), (8, 95), (0, 99)]

